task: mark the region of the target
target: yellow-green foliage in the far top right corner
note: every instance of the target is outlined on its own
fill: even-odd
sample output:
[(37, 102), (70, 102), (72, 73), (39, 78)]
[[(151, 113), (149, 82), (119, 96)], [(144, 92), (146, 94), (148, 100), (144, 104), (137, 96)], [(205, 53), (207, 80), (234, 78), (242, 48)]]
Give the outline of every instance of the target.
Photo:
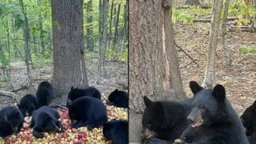
[(244, 1), (231, 2), (229, 9), (230, 16), (238, 18), (238, 26), (249, 24), (250, 18), (256, 17), (256, 10), (253, 5), (247, 6)]

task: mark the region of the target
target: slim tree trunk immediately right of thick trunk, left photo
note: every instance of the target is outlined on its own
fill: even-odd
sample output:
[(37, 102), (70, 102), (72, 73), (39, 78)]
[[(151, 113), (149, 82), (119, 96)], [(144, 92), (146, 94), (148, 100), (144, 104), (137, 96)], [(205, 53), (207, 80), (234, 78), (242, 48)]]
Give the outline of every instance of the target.
[(86, 4), (86, 42), (89, 51), (94, 51), (94, 18), (93, 18), (93, 1), (90, 0)]

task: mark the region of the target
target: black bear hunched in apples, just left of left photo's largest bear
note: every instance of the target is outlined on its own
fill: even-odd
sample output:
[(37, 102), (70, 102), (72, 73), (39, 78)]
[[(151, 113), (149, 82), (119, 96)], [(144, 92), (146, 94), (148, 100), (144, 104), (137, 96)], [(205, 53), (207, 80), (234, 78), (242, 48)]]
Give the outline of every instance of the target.
[(30, 128), (33, 128), (33, 136), (43, 138), (42, 132), (51, 130), (62, 133), (64, 130), (62, 123), (58, 121), (59, 118), (58, 111), (50, 106), (42, 106), (35, 110), (30, 122)]

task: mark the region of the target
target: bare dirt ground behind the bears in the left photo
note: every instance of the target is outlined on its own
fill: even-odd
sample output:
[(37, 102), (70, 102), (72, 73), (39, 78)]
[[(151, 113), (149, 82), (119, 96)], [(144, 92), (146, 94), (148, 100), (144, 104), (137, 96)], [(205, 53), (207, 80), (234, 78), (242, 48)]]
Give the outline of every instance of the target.
[[(96, 74), (98, 59), (91, 58), (86, 61), (87, 75), (90, 86), (95, 86), (102, 92), (103, 99), (110, 94), (111, 91), (115, 89), (125, 90), (128, 86), (128, 66), (126, 63), (121, 62), (106, 62), (106, 75), (102, 78), (102, 81), (98, 84), (96, 83)], [(43, 66), (43, 68), (36, 68), (31, 70), (33, 78), (33, 86), (28, 89), (15, 91), (18, 94), (18, 98), (22, 98), (25, 94), (35, 94), (38, 84), (42, 81), (50, 82), (53, 75), (52, 66)], [(0, 90), (15, 90), (21, 86), (27, 86), (27, 76), (26, 76), (26, 66), (23, 62), (11, 63), (11, 82), (1, 82), (2, 76), (0, 73)], [(105, 96), (105, 98), (104, 98)], [(0, 108), (8, 105), (14, 105), (15, 102), (12, 98), (0, 96)]]

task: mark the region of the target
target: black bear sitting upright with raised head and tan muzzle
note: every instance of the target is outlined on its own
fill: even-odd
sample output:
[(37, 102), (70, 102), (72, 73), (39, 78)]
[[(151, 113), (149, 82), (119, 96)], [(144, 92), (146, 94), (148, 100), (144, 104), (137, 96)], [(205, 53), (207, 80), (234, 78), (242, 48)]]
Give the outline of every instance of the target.
[(226, 99), (224, 86), (216, 85), (213, 90), (203, 89), (197, 82), (192, 81), (190, 89), (194, 94), (193, 108), (187, 117), (190, 126), (181, 136), (183, 142), (249, 143), (238, 114)]

